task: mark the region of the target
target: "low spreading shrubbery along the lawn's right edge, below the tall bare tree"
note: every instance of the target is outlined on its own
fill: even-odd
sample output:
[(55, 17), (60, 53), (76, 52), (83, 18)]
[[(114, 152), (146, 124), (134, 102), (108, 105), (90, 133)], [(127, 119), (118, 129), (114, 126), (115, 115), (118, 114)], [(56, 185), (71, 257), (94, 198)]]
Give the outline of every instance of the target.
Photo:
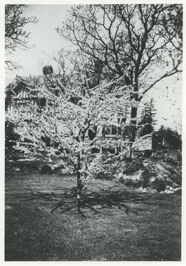
[(106, 180), (116, 178), (116, 181), (124, 185), (149, 188), (157, 192), (165, 191), (166, 186), (181, 185), (180, 152), (154, 152), (153, 158), (144, 157), (144, 154), (141, 157), (139, 153), (136, 158), (101, 156), (101, 160), (92, 169), (92, 176)]

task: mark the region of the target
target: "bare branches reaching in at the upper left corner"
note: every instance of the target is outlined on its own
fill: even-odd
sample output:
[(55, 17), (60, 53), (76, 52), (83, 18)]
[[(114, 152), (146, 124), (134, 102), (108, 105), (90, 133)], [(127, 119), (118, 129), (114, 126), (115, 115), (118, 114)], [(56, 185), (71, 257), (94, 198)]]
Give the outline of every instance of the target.
[[(26, 7), (25, 5), (5, 6), (5, 49), (7, 55), (12, 54), (17, 48), (30, 48), (28, 45), (30, 32), (27, 32), (24, 27), (28, 23), (37, 23), (37, 18), (24, 17), (23, 10)], [(6, 68), (13, 70), (18, 66), (11, 60), (6, 60)]]

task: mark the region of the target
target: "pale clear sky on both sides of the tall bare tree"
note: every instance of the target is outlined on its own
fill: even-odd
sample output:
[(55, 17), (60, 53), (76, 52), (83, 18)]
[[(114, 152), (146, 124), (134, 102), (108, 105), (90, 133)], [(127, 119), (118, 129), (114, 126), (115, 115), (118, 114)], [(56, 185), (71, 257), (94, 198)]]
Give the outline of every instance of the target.
[[(74, 50), (74, 45), (66, 41), (56, 32), (65, 17), (68, 16), (68, 5), (28, 5), (25, 17), (37, 17), (38, 23), (29, 24), (26, 28), (30, 32), (30, 50), (17, 50), (11, 59), (21, 65), (21, 70), (6, 73), (6, 83), (9, 83), (18, 74), (20, 76), (35, 76), (42, 74), (44, 65), (52, 65), (51, 57), (61, 48)], [(179, 79), (178, 79), (179, 78)], [(156, 129), (161, 125), (172, 127), (180, 132), (178, 123), (181, 122), (180, 108), (182, 105), (182, 79), (181, 76), (166, 78), (144, 97), (143, 101), (154, 98), (156, 108)]]

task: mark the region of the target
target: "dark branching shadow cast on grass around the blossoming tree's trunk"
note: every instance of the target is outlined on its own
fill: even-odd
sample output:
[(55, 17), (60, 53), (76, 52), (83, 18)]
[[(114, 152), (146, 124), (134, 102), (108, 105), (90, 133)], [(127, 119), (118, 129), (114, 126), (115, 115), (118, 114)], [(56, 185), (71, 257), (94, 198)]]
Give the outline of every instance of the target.
[[(110, 212), (111, 209), (121, 209), (126, 214), (131, 212), (140, 215), (143, 211), (151, 211), (149, 205), (162, 205), (161, 200), (165, 201), (164, 197), (156, 194), (127, 192), (116, 190), (116, 188), (117, 185), (106, 189), (100, 188), (99, 191), (83, 190), (80, 209), (76, 201), (76, 187), (68, 189), (55, 187), (55, 190), (59, 191), (57, 193), (30, 190), (30, 195), (21, 196), (21, 201), (38, 201), (40, 204), (48, 205), (51, 208), (51, 213), (56, 209), (61, 209), (62, 213), (79, 212), (82, 216), (90, 213), (114, 215)], [(148, 207), (144, 208), (145, 205)]]

